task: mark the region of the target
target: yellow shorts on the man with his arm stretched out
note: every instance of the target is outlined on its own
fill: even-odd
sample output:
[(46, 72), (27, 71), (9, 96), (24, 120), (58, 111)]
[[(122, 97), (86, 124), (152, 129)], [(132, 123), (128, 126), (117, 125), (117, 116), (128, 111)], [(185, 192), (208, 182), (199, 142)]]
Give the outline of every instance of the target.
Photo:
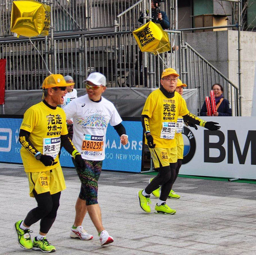
[(177, 147), (174, 148), (149, 148), (155, 168), (166, 167), (177, 162)]

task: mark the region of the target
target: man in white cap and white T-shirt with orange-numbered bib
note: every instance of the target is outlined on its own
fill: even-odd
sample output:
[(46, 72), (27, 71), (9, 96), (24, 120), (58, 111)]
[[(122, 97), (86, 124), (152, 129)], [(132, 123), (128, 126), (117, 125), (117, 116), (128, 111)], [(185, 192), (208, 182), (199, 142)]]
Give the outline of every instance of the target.
[(82, 240), (93, 238), (81, 226), (88, 211), (100, 236), (100, 243), (105, 245), (114, 241), (102, 225), (97, 201), (98, 179), (105, 158), (107, 125), (114, 126), (123, 145), (128, 143), (128, 136), (114, 104), (101, 96), (106, 90), (106, 77), (99, 72), (93, 72), (87, 77), (86, 90), (85, 96), (74, 99), (64, 108), (66, 118), (73, 118), (74, 146), (85, 161), (85, 168), (81, 169), (73, 160), (81, 181), (81, 190), (76, 201), (76, 217), (70, 236)]

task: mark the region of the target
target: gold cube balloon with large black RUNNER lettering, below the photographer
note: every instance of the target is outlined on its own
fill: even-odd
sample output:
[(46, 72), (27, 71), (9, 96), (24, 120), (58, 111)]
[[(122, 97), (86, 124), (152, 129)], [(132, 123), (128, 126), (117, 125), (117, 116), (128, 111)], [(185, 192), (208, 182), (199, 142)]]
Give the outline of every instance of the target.
[(168, 33), (166, 33), (160, 24), (152, 21), (133, 31), (133, 36), (141, 51), (158, 53), (171, 50)]

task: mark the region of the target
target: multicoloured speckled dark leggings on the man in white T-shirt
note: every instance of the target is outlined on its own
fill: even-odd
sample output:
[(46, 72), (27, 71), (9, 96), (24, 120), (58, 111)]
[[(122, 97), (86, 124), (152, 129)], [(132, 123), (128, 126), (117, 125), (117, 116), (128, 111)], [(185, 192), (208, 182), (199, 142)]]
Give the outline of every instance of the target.
[(101, 173), (102, 161), (91, 161), (84, 159), (84, 169), (77, 167), (73, 157), (72, 161), (81, 181), (79, 198), (85, 200), (86, 205), (98, 204), (98, 179)]

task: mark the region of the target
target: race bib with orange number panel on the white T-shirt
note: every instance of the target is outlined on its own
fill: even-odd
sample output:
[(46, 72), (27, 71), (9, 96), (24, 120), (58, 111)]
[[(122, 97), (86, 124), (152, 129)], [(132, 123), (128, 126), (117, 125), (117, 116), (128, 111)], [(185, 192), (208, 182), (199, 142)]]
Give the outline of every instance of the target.
[(83, 151), (103, 151), (103, 135), (85, 135), (82, 142)]

